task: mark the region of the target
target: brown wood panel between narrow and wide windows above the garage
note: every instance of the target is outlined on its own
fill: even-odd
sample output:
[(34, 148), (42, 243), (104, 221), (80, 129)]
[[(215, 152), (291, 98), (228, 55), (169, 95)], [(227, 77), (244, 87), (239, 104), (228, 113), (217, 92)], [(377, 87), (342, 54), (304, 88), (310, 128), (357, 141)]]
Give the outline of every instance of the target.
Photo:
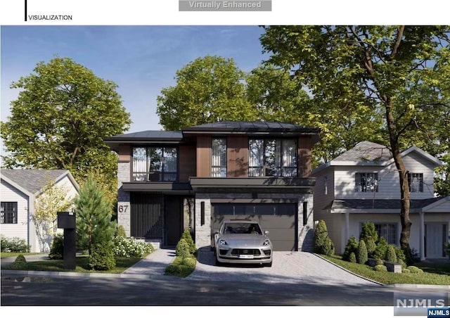
[(248, 136), (229, 136), (226, 148), (227, 177), (248, 177)]

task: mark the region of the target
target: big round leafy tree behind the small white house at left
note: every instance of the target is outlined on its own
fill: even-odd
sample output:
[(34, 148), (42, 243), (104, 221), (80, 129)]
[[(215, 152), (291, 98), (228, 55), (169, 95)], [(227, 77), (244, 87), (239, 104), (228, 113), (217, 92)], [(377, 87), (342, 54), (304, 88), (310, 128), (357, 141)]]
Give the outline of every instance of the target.
[(117, 85), (57, 57), (38, 63), (11, 88), (20, 94), (1, 123), (4, 166), (68, 169), (78, 181), (95, 171), (115, 198), (117, 158), (103, 137), (122, 134), (131, 123)]

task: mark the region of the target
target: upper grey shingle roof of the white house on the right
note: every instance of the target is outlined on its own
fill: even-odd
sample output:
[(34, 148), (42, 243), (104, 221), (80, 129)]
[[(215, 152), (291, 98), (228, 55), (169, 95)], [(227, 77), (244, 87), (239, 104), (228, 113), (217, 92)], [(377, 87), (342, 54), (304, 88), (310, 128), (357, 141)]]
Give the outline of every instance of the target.
[[(416, 146), (407, 148), (405, 151), (402, 151), (400, 155), (401, 157), (404, 157), (412, 152), (415, 152), (426, 160), (430, 161), (433, 165), (435, 165), (435, 167), (439, 167), (439, 165), (444, 164), (441, 160), (433, 157), (429, 153), (426, 153)], [(361, 141), (349, 151), (345, 151), (345, 153), (338, 155), (338, 157), (334, 158), (328, 163), (317, 167), (313, 172), (311, 172), (311, 174), (316, 174), (317, 172), (324, 170), (331, 165), (365, 165), (381, 167), (390, 165), (392, 163), (394, 163), (394, 158), (392, 158), (392, 154), (389, 148), (371, 141)]]

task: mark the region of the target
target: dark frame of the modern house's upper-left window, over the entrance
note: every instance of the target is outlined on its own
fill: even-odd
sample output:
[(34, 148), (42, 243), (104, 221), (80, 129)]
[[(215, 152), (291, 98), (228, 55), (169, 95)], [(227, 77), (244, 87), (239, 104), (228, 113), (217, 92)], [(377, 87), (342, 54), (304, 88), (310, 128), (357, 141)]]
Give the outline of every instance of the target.
[[(134, 149), (135, 148), (145, 148), (146, 149), (146, 171), (136, 172), (134, 170)], [(173, 148), (176, 153), (176, 171), (166, 172), (165, 171), (165, 149)], [(149, 152), (150, 149), (160, 149), (160, 163), (162, 165), (162, 170), (150, 170), (150, 165), (148, 165)], [(143, 175), (142, 180), (138, 180), (137, 176)], [(169, 177), (173, 176), (173, 177)], [(132, 182), (178, 182), (179, 180), (179, 147), (174, 145), (161, 145), (161, 146), (133, 146), (131, 148), (131, 180)]]

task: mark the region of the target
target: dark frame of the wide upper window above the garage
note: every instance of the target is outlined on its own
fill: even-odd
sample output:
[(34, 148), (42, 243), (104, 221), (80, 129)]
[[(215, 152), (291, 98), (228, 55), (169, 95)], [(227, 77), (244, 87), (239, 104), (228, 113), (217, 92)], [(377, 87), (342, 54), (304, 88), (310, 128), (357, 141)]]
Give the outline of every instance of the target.
[[(263, 155), (263, 165), (250, 165), (250, 155), (251, 155), (251, 148), (250, 143), (252, 141), (262, 141), (262, 155)], [(277, 141), (280, 141), (280, 153), (276, 153), (276, 155), (279, 155), (280, 163), (279, 166), (275, 167), (269, 167), (268, 160), (267, 160), (267, 141), (275, 141), (275, 144)], [(286, 166), (284, 167), (283, 163), (283, 146), (285, 141), (295, 141), (295, 166)], [(276, 137), (264, 137), (264, 138), (250, 138), (248, 139), (248, 177), (298, 177), (298, 170), (299, 170), (299, 155), (298, 155), (298, 139), (295, 138), (276, 138)], [(259, 171), (258, 171), (259, 169)], [(292, 173), (286, 173), (287, 171), (293, 171), (295, 169), (295, 174)], [(255, 170), (257, 173), (252, 173), (251, 171)], [(275, 171), (274, 174), (271, 174), (270, 171)], [(269, 172), (269, 173), (268, 173)], [(256, 174), (256, 175), (251, 175)]]

